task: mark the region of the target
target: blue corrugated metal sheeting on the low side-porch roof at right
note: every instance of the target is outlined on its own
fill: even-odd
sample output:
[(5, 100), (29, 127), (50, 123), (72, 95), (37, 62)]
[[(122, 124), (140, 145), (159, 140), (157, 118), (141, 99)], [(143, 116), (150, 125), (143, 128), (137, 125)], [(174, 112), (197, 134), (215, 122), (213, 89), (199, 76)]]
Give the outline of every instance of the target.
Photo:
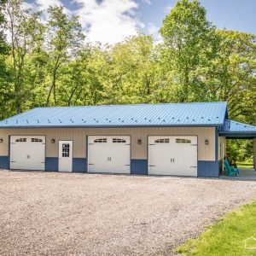
[(224, 125), (220, 127), (219, 131), (225, 133), (256, 133), (256, 126), (243, 124), (230, 119), (224, 119)]

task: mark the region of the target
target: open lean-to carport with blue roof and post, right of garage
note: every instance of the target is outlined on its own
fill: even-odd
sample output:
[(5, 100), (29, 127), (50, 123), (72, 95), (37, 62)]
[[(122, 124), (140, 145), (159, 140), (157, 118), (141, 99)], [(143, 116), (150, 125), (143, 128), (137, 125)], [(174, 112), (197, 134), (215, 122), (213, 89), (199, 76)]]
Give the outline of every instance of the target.
[(225, 119), (224, 125), (218, 131), (218, 136), (226, 139), (252, 139), (253, 167), (254, 171), (256, 171), (256, 126)]

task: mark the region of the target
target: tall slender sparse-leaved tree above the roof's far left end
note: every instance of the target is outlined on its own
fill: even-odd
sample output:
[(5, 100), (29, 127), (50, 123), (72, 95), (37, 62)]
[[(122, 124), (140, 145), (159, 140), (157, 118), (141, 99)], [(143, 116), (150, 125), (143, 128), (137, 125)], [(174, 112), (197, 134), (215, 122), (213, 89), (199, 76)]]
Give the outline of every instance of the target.
[(36, 35), (40, 32), (42, 25), (40, 14), (30, 14), (30, 10), (24, 9), (22, 0), (9, 0), (7, 13), (13, 61), (15, 112), (20, 113), (27, 97), (24, 84), (26, 57), (32, 52)]

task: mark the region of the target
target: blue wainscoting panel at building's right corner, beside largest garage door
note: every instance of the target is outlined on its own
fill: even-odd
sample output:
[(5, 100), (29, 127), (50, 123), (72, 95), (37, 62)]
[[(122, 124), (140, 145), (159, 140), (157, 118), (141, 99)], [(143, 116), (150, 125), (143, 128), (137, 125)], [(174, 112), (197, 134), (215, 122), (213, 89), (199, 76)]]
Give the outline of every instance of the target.
[(218, 161), (198, 161), (198, 177), (218, 177)]

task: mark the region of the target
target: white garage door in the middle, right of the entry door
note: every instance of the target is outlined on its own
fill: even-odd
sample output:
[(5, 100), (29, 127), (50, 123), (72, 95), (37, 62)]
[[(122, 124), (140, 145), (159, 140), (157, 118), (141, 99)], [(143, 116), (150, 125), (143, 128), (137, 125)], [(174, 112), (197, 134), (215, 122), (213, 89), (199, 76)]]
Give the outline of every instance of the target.
[(129, 136), (89, 136), (88, 172), (130, 173)]

